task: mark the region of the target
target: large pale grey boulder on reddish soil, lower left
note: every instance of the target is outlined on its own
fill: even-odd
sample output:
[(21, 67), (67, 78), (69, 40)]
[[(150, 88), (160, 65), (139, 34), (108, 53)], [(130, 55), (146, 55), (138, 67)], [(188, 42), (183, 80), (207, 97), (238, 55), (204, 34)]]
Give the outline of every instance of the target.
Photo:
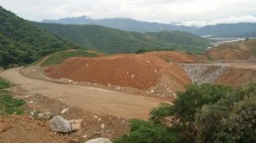
[(56, 116), (50, 121), (50, 127), (52, 131), (69, 133), (72, 131), (71, 123), (67, 119), (63, 119), (60, 116)]

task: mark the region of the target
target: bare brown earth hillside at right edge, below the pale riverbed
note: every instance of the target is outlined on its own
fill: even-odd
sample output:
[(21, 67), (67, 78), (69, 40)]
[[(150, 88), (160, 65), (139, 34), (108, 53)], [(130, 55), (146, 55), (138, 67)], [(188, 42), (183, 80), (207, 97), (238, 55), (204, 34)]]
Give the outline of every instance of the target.
[(233, 62), (248, 61), (256, 62), (256, 39), (239, 42), (225, 43), (218, 47), (211, 48), (206, 55), (216, 61)]

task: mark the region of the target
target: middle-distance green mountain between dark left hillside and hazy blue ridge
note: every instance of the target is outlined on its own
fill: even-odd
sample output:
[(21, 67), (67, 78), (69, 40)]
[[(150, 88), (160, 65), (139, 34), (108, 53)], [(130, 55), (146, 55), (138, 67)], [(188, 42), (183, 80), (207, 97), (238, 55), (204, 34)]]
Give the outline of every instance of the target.
[(133, 32), (101, 25), (37, 24), (80, 46), (105, 53), (134, 53), (140, 49), (202, 52), (210, 41), (185, 31)]

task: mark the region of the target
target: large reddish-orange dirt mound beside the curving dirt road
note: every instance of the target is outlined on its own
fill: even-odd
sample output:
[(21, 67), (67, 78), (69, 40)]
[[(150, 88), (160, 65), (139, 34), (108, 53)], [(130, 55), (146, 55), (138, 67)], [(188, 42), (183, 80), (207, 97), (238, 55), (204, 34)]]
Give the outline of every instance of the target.
[(127, 54), (101, 58), (71, 58), (45, 71), (53, 78), (148, 89), (156, 85), (162, 73), (168, 70), (173, 70), (168, 72), (175, 74), (179, 80), (189, 80), (185, 73), (182, 74), (184, 71), (181, 68), (174, 66), (175, 64), (169, 64), (154, 54)]

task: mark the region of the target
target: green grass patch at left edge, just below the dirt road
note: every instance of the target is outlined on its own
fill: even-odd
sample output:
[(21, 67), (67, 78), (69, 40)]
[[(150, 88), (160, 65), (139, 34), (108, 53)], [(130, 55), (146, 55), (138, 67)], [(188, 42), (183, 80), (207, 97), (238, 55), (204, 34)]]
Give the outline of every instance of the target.
[(26, 102), (13, 98), (7, 91), (3, 90), (9, 87), (11, 87), (10, 82), (0, 77), (0, 116), (12, 114), (22, 115)]

